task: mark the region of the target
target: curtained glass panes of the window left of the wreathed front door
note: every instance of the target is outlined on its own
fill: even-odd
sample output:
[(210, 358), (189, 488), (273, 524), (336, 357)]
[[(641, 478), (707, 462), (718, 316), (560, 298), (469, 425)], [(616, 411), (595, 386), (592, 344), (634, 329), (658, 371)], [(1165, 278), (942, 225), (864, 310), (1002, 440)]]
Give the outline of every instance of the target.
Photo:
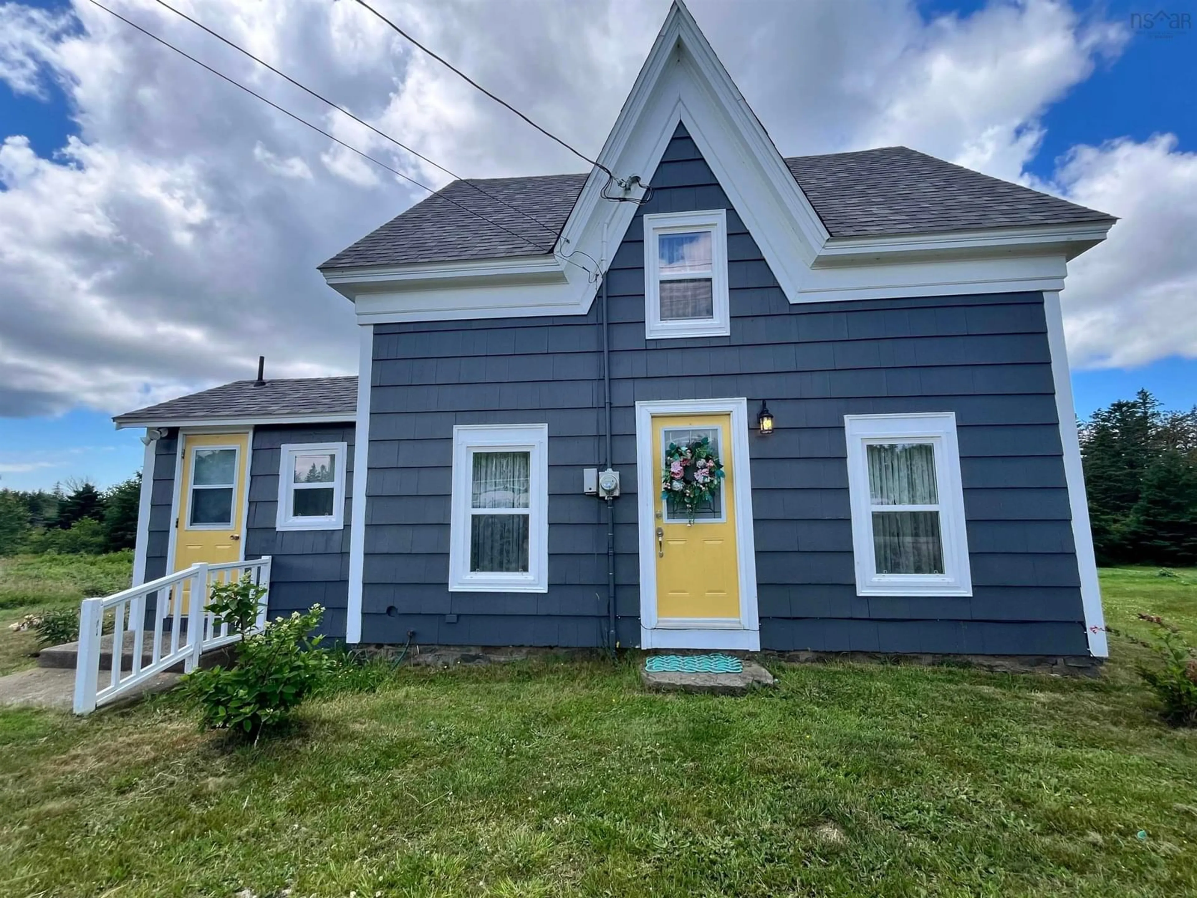
[[(527, 509), (531, 487), (530, 453), (474, 453), (472, 509)], [(527, 572), (529, 514), (472, 511), (469, 569), (475, 572)]]

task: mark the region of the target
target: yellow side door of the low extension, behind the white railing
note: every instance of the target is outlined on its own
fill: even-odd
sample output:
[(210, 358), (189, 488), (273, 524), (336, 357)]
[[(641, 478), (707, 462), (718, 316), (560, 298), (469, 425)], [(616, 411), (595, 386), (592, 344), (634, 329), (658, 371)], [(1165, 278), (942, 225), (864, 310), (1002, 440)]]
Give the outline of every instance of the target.
[(248, 433), (183, 435), (175, 570), (242, 558)]

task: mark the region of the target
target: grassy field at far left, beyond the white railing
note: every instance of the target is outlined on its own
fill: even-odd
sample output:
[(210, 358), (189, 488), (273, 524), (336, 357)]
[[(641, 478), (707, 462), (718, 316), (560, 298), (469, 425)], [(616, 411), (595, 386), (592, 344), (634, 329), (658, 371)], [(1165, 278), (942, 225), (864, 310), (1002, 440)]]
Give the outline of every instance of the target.
[(37, 637), (29, 630), (14, 633), (10, 624), (43, 608), (111, 595), (128, 588), (132, 580), (132, 552), (0, 558), (0, 675), (37, 663)]

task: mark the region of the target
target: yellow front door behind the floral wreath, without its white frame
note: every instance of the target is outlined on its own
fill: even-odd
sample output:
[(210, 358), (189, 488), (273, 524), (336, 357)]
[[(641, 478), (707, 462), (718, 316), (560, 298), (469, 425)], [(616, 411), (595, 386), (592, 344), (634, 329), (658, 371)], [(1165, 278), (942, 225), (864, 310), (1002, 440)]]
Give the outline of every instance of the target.
[[(713, 500), (707, 508), (698, 509), (691, 523), (683, 508), (662, 497), (660, 483), (669, 444), (687, 445), (704, 436), (723, 463), (724, 478)], [(740, 565), (731, 415), (654, 415), (652, 456), (658, 485), (654, 499), (658, 625), (685, 626), (691, 619), (695, 626), (703, 626), (699, 621), (739, 626)]]

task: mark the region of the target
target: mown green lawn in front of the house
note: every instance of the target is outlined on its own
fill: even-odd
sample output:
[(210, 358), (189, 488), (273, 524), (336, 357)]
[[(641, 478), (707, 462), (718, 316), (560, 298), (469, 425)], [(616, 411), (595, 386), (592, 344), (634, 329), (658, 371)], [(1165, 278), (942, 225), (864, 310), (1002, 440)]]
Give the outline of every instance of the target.
[[(1111, 623), (1197, 625), (1181, 575), (1104, 572)], [(746, 699), (405, 668), (256, 748), (178, 696), (2, 711), (0, 894), (1195, 894), (1197, 732), (1113, 651), (1100, 680), (777, 666)]]

